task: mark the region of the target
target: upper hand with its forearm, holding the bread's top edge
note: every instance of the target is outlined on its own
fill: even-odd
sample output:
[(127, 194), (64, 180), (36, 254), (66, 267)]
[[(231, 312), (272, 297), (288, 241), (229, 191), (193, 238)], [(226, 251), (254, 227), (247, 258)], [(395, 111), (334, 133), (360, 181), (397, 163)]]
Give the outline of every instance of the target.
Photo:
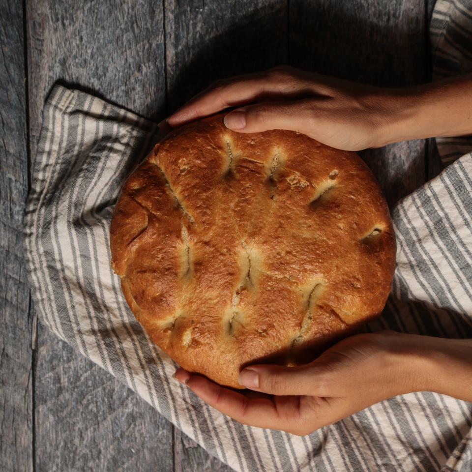
[(172, 127), (236, 107), (225, 124), (241, 133), (289, 129), (346, 150), (472, 132), (472, 74), (387, 89), (294, 67), (218, 81), (167, 119)]

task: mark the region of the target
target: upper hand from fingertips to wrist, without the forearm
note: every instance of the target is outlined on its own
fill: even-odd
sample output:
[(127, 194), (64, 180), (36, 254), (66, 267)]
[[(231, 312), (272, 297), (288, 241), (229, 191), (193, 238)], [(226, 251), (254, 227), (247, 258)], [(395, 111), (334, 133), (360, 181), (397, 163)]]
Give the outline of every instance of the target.
[(395, 90), (281, 66), (218, 81), (167, 121), (177, 127), (237, 107), (225, 124), (240, 133), (289, 129), (334, 148), (377, 148), (395, 141)]

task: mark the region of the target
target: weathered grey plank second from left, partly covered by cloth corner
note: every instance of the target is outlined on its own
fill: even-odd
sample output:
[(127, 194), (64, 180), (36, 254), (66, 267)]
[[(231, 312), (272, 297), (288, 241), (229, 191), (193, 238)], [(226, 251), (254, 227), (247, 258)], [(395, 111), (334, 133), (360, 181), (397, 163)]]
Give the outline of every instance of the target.
[[(27, 2), (31, 155), (58, 79), (137, 113), (164, 113), (160, 0)], [(38, 328), (38, 471), (171, 471), (173, 427), (127, 387)]]

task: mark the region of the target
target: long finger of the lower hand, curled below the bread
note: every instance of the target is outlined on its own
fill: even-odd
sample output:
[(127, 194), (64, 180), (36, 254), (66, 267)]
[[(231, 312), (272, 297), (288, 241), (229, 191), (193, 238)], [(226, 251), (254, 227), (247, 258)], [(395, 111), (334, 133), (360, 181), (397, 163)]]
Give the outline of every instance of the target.
[(282, 423), (276, 405), (268, 398), (247, 398), (200, 375), (191, 375), (186, 385), (205, 403), (240, 423), (259, 428), (288, 427)]

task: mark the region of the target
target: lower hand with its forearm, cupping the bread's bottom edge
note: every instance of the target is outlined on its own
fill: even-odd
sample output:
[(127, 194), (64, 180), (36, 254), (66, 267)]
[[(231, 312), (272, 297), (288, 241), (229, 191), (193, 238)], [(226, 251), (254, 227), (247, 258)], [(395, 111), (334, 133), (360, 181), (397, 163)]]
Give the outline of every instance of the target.
[(248, 366), (239, 380), (251, 390), (246, 395), (183, 369), (176, 378), (243, 424), (306, 435), (413, 391), (438, 391), (470, 401), (471, 354), (471, 340), (381, 331), (346, 338), (306, 365)]

